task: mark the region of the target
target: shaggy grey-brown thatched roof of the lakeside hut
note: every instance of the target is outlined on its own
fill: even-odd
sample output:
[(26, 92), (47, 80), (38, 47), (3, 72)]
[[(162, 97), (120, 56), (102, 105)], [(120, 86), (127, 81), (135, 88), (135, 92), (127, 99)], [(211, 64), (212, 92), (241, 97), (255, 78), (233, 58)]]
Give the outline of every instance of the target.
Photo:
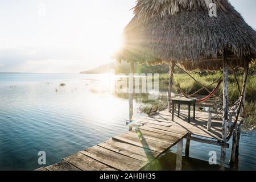
[[(217, 17), (209, 16), (210, 2)], [(227, 0), (138, 0), (134, 14), (115, 56), (119, 61), (220, 69), (225, 49), (234, 66), (256, 56), (255, 30)]]

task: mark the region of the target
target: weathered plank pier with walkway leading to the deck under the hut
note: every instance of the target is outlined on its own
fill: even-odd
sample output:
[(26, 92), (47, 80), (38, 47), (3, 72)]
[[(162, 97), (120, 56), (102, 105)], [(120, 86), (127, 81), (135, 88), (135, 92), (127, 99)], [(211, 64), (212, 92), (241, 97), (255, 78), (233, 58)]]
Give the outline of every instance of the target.
[(181, 170), (184, 138), (187, 138), (186, 156), (189, 156), (190, 140), (229, 147), (221, 142), (222, 121), (213, 119), (209, 131), (208, 113), (196, 111), (196, 118), (190, 123), (187, 115), (187, 110), (180, 110), (180, 118), (175, 114), (174, 121), (171, 121), (171, 113), (164, 110), (150, 117), (135, 118), (133, 125), (139, 127), (36, 170), (138, 171), (176, 144), (176, 170)]

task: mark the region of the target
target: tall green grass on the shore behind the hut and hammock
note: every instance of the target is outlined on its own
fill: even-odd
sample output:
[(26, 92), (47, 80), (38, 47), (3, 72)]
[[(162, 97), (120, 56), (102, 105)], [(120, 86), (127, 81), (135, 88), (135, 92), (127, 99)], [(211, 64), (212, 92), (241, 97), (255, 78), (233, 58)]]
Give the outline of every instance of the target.
[[(200, 75), (199, 73), (191, 73), (191, 75), (196, 78), (197, 81), (199, 81), (203, 85), (210, 85), (212, 82), (216, 81), (218, 78), (222, 77), (221, 72), (216, 73), (208, 73), (207, 75)], [(243, 76), (240, 74), (238, 75), (238, 81), (240, 82), (240, 90), (242, 90), (242, 81)], [(168, 90), (168, 82), (169, 82), (169, 76), (168, 74), (162, 74), (159, 76), (159, 82), (160, 82), (160, 91), (167, 92)], [(193, 80), (191, 77), (189, 77), (187, 74), (175, 74), (174, 75), (174, 86), (173, 86), (173, 92), (179, 93), (179, 89), (177, 88), (177, 84), (180, 84), (181, 89), (187, 93), (192, 94), (195, 93), (197, 90), (201, 88), (199, 84), (195, 80)], [(213, 84), (208, 87), (210, 91), (212, 91), (216, 84)], [(229, 91), (229, 102), (230, 105), (234, 104), (236, 102), (240, 95), (238, 93), (238, 87), (236, 80), (232, 74), (229, 75), (229, 82), (228, 82), (228, 91)], [(198, 93), (198, 95), (208, 95), (209, 93), (207, 90), (201, 90), (201, 92)], [(220, 88), (218, 88), (216, 92), (217, 96), (222, 97), (222, 84)], [(256, 77), (254, 74), (251, 74), (248, 78), (247, 82), (247, 88), (246, 88), (246, 104), (245, 104), (245, 112), (246, 112), (246, 119), (245, 119), (245, 125), (244, 129), (252, 129), (256, 126)], [(150, 110), (151, 107), (159, 106), (159, 109), (161, 108), (166, 109), (167, 108), (167, 98), (162, 97), (158, 101), (146, 101), (142, 100), (142, 103), (145, 103), (146, 105), (141, 106), (141, 111), (146, 113), (148, 110)]]

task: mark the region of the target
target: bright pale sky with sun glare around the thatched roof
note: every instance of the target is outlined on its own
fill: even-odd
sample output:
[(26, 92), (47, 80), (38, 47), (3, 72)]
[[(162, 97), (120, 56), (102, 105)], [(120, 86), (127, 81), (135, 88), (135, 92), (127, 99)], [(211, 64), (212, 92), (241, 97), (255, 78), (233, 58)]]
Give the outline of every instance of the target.
[[(229, 0), (256, 29), (256, 1)], [(1, 0), (0, 72), (79, 73), (111, 63), (135, 0)]]

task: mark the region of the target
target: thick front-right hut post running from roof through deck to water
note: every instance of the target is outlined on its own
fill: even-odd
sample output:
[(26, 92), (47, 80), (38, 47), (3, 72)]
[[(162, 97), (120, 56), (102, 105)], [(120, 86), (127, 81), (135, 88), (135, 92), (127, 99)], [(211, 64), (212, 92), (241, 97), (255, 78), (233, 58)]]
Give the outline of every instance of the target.
[[(228, 97), (228, 59), (226, 51), (223, 52), (223, 121), (222, 121), (222, 140), (226, 143), (228, 135), (228, 115), (229, 115), (229, 97)], [(225, 170), (226, 147), (221, 147), (220, 170)]]

